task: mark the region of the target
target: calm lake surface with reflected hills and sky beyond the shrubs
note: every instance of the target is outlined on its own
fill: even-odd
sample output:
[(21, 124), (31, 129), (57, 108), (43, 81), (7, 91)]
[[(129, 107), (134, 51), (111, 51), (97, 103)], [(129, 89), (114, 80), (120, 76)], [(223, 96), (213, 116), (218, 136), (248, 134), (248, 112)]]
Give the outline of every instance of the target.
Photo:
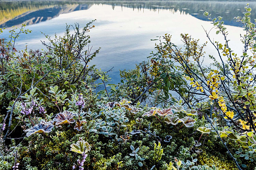
[[(40, 40), (46, 40), (41, 31), (53, 37), (63, 35), (67, 24), (79, 23), (85, 26), (89, 21), (95, 28), (90, 31), (93, 49), (101, 47), (91, 64), (108, 71), (112, 82), (119, 82), (119, 70), (135, 68), (135, 64), (147, 60), (157, 36), (168, 33), (178, 46), (180, 33), (192, 35), (207, 41), (204, 29), (210, 30), (212, 24), (203, 16), (204, 11), (212, 17), (222, 16), (229, 31), (230, 46), (242, 53), (239, 34), (242, 28), (233, 17), (242, 16), (247, 2), (220, 1), (0, 1), (0, 28), (10, 28), (27, 23), (32, 33), (22, 35), (16, 48), (27, 45), (31, 49), (44, 48)], [(256, 18), (256, 2), (250, 2), (252, 18)], [(1, 38), (8, 37), (5, 31)], [(214, 40), (221, 41), (221, 35), (210, 34)], [(216, 55), (208, 44), (207, 55)], [(209, 64), (206, 59), (205, 65)]]

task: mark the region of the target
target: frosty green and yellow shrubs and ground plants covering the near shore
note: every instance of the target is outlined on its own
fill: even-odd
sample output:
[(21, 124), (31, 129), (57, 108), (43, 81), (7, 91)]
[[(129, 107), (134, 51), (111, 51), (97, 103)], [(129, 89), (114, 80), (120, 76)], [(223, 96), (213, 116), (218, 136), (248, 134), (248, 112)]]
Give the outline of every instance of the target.
[(245, 9), (236, 17), (241, 57), (221, 17), (205, 12), (224, 37), (213, 42), (206, 31), (219, 59), (203, 67), (206, 43), (181, 34), (179, 48), (166, 34), (148, 61), (120, 71), (117, 85), (88, 66), (99, 53), (88, 50), (93, 22), (45, 35), (45, 51), (18, 51), (15, 40), (31, 31), (13, 28), (0, 39), (0, 169), (255, 169), (256, 30)]

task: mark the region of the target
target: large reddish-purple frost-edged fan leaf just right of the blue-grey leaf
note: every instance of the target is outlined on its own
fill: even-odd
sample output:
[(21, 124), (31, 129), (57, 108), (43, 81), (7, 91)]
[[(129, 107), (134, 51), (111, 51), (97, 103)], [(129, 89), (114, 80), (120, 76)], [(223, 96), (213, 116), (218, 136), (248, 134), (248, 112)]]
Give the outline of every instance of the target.
[(55, 125), (62, 125), (65, 123), (74, 123), (76, 122), (73, 117), (75, 116), (74, 113), (70, 112), (70, 111), (64, 111), (62, 113), (58, 113), (55, 118), (53, 119), (55, 123)]

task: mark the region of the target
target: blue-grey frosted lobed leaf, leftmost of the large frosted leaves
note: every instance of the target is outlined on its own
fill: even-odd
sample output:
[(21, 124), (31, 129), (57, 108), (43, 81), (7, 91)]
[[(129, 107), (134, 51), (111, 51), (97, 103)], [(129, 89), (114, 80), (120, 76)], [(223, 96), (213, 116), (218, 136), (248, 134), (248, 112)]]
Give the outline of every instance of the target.
[(49, 133), (52, 131), (53, 125), (49, 122), (40, 122), (39, 124), (24, 130), (26, 132), (26, 136), (30, 136), (34, 133)]

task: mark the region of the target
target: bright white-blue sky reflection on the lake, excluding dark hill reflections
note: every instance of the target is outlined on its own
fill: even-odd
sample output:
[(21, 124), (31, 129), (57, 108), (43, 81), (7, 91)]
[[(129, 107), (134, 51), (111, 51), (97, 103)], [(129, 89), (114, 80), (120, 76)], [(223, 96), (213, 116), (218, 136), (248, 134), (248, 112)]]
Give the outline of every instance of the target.
[[(185, 9), (184, 9), (185, 10)], [(91, 44), (93, 50), (101, 47), (99, 54), (90, 64), (96, 64), (97, 68), (110, 72), (113, 83), (119, 81), (119, 70), (135, 68), (135, 64), (147, 60), (151, 51), (154, 51), (154, 44), (157, 36), (171, 34), (172, 40), (178, 46), (180, 33), (192, 35), (195, 39), (200, 39), (201, 44), (207, 41), (204, 29), (210, 30), (212, 24), (208, 21), (199, 20), (185, 12), (179, 10), (150, 10), (144, 8), (138, 10), (134, 8), (123, 8), (106, 4), (93, 4), (87, 10), (73, 11), (67, 14), (60, 14), (51, 20), (35, 25), (27, 26), (32, 33), (21, 36), (17, 41), (17, 48), (22, 49), (25, 45), (32, 49), (41, 49), (40, 40), (46, 40), (40, 31), (53, 37), (64, 34), (67, 24), (79, 23), (85, 26), (91, 20), (97, 19), (93, 25), (96, 27), (90, 31)], [(230, 38), (230, 47), (236, 49), (240, 55), (242, 53), (239, 34), (242, 33), (241, 27), (227, 26)], [(3, 37), (7, 37), (7, 31)], [(213, 29), (211, 34), (214, 40), (222, 41), (221, 35), (215, 35)], [(207, 55), (216, 55), (211, 44), (205, 48)], [(207, 57), (208, 58), (208, 57)], [(205, 60), (205, 65), (209, 64), (209, 59)]]

